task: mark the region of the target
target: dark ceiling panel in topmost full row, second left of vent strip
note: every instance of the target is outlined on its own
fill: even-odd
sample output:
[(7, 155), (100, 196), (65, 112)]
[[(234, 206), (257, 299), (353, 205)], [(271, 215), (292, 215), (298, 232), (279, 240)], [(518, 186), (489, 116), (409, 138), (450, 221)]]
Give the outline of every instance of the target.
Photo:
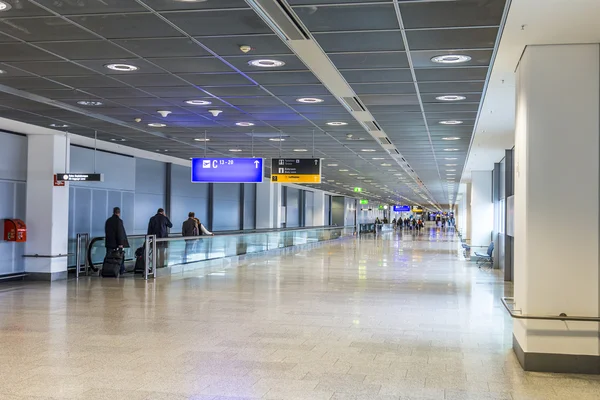
[(71, 17), (74, 22), (108, 39), (183, 36), (153, 14), (109, 14)]

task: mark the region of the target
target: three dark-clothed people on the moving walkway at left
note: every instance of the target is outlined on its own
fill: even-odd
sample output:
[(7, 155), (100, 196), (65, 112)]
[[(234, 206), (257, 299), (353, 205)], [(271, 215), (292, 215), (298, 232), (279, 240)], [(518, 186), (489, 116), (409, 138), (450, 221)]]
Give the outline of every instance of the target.
[[(169, 237), (169, 229), (173, 228), (173, 223), (167, 217), (165, 210), (159, 208), (156, 215), (150, 218), (148, 221), (148, 235), (154, 235), (157, 239), (163, 239)], [(188, 219), (185, 220), (181, 227), (181, 236), (183, 237), (197, 237), (197, 236), (212, 236), (214, 235), (196, 218), (194, 212), (188, 214)], [(125, 225), (121, 219), (121, 209), (119, 207), (113, 208), (113, 215), (106, 220), (104, 225), (104, 243), (106, 247), (106, 253), (109, 254), (115, 250), (123, 250), (129, 248), (129, 241), (127, 240), (127, 232), (125, 231)], [(193, 250), (194, 240), (186, 240), (185, 258), (190, 250)], [(163, 266), (165, 262), (165, 256), (167, 251), (167, 242), (157, 243), (157, 265)], [(122, 257), (120, 274), (125, 273), (125, 257)]]

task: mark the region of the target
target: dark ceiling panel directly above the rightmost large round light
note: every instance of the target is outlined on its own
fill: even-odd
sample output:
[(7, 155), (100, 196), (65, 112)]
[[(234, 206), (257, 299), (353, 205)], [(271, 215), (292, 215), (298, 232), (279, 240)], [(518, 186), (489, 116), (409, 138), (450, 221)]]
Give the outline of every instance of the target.
[(493, 49), (497, 28), (407, 31), (411, 50)]

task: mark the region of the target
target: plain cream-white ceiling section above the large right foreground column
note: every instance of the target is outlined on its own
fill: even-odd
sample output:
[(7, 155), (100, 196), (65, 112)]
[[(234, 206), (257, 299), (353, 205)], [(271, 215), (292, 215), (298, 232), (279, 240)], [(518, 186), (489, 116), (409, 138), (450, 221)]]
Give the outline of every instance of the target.
[(491, 171), (515, 144), (515, 71), (527, 46), (599, 43), (597, 0), (512, 0), (463, 180)]

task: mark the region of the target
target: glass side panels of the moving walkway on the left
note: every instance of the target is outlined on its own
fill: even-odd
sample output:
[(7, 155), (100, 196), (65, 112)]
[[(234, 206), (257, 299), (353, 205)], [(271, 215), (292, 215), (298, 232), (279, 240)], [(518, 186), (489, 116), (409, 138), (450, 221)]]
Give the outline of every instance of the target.
[[(158, 268), (215, 260), (225, 257), (256, 254), (269, 250), (323, 242), (354, 234), (354, 226), (318, 227), (225, 233), (215, 236), (156, 239)], [(144, 246), (146, 236), (128, 236), (130, 248), (125, 249), (128, 270), (133, 269), (136, 249)], [(152, 247), (152, 246), (151, 246)], [(104, 238), (93, 238), (87, 251), (90, 265), (99, 266), (106, 255)]]

